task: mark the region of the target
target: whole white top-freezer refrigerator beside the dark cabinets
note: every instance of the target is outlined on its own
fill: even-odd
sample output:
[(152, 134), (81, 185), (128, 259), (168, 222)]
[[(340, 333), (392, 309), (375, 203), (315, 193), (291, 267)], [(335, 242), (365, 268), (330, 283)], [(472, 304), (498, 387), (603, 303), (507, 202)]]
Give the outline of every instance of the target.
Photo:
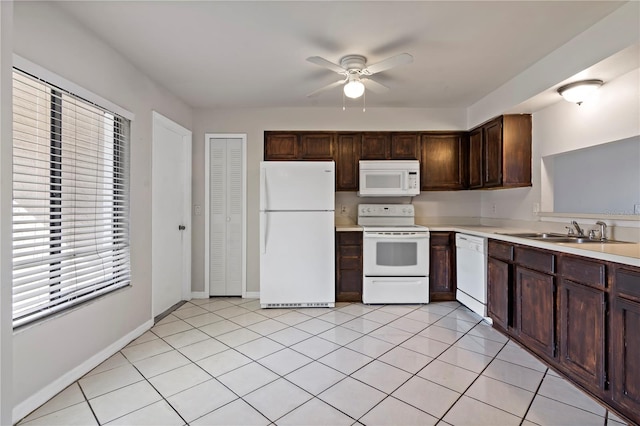
[(335, 306), (335, 163), (260, 163), (260, 305)]

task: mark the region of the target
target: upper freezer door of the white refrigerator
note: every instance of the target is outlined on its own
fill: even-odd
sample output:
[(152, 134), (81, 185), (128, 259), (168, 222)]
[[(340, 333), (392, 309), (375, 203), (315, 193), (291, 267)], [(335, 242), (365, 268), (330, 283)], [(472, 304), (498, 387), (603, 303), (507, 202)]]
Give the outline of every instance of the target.
[(333, 161), (260, 163), (260, 210), (334, 210)]

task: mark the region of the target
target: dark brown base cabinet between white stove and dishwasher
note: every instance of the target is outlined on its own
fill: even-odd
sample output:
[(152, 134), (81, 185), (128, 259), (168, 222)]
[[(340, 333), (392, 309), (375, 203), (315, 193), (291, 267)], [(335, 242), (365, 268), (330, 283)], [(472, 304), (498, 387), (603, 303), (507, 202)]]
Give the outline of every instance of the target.
[(454, 233), (432, 232), (429, 258), (429, 300), (456, 300)]

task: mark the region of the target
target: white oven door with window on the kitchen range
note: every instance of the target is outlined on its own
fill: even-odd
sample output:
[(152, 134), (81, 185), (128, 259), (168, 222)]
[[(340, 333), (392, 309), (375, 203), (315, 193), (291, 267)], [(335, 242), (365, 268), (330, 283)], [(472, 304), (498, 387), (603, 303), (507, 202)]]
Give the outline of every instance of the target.
[(428, 232), (364, 232), (363, 269), (371, 277), (429, 275)]

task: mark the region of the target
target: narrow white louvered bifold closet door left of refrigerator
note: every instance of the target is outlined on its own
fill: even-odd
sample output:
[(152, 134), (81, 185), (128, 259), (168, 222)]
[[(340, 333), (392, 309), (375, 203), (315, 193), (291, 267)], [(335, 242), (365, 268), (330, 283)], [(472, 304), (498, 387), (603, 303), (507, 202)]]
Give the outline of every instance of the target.
[(205, 280), (210, 296), (244, 296), (246, 136), (207, 134), (205, 143), (208, 164)]

